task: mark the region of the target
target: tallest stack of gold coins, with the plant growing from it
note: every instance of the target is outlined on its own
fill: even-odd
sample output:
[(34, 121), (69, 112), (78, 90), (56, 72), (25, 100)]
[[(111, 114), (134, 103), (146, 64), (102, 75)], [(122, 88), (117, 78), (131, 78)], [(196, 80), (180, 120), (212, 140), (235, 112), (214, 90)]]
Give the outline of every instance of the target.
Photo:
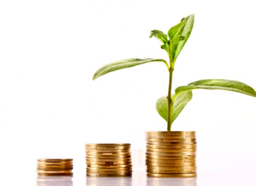
[(182, 178), (197, 176), (195, 132), (146, 132), (146, 141), (148, 176)]

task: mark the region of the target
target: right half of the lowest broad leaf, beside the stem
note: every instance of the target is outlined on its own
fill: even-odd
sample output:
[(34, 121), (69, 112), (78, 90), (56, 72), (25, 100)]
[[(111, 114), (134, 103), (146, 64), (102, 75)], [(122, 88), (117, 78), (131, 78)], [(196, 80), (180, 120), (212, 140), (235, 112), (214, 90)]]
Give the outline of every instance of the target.
[(179, 93), (179, 95), (174, 96), (173, 105), (172, 105), (172, 113), (171, 113), (171, 124), (178, 117), (178, 115), (182, 112), (183, 108), (187, 105), (187, 103), (192, 99), (192, 91), (185, 91)]

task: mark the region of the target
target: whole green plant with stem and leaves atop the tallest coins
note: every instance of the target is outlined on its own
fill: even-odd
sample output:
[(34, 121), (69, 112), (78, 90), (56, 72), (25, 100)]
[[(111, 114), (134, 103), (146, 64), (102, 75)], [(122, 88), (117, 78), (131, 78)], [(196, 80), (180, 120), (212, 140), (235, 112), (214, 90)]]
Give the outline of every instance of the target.
[(186, 104), (192, 99), (193, 89), (221, 89), (229, 90), (238, 93), (244, 93), (250, 96), (256, 97), (255, 90), (239, 81), (234, 80), (198, 80), (189, 83), (187, 86), (179, 86), (175, 89), (175, 93), (172, 93), (172, 77), (175, 66), (175, 61), (181, 52), (183, 46), (189, 39), (190, 33), (194, 25), (194, 14), (183, 18), (181, 22), (174, 27), (171, 27), (168, 34), (164, 34), (159, 30), (152, 30), (150, 34), (151, 37), (155, 37), (162, 42), (161, 48), (168, 53), (169, 62), (162, 59), (125, 59), (119, 60), (114, 63), (102, 66), (99, 70), (94, 73), (93, 80), (96, 78), (123, 68), (128, 68), (132, 66), (141, 65), (148, 62), (160, 61), (163, 62), (169, 71), (169, 85), (168, 85), (168, 95), (159, 98), (156, 101), (156, 110), (162, 116), (164, 120), (167, 121), (167, 130), (171, 130), (173, 121), (177, 118), (179, 113)]

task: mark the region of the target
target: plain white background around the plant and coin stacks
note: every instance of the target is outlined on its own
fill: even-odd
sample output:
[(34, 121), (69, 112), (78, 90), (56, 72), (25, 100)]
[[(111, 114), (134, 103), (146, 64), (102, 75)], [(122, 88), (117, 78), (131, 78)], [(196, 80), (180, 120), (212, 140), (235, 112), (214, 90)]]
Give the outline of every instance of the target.
[[(84, 185), (84, 144), (145, 146), (145, 131), (166, 130), (155, 101), (168, 71), (150, 63), (94, 72), (125, 58), (162, 58), (151, 29), (167, 33), (195, 13), (176, 60), (174, 88), (201, 79), (242, 81), (256, 89), (253, 0), (0, 1), (0, 185), (34, 185), (36, 159), (74, 158)], [(173, 130), (197, 132), (198, 186), (256, 183), (256, 98), (195, 90)]]

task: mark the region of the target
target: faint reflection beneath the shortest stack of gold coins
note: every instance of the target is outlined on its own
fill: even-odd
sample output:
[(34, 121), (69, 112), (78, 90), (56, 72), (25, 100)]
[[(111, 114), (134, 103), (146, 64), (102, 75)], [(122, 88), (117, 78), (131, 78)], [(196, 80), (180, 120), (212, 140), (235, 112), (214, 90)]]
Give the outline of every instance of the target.
[(72, 176), (38, 176), (36, 186), (73, 186)]

